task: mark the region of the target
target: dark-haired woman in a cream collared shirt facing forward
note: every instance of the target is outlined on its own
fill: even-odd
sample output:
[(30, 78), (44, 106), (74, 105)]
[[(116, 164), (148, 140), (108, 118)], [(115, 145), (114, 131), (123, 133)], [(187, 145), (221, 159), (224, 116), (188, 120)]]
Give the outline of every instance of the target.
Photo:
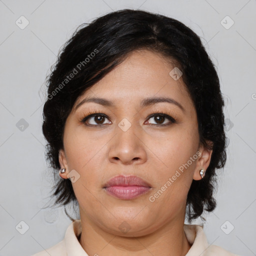
[(56, 203), (77, 202), (80, 219), (34, 255), (235, 255), (184, 224), (215, 208), (226, 161), (219, 79), (200, 38), (130, 9), (78, 28), (47, 79), (42, 130)]

